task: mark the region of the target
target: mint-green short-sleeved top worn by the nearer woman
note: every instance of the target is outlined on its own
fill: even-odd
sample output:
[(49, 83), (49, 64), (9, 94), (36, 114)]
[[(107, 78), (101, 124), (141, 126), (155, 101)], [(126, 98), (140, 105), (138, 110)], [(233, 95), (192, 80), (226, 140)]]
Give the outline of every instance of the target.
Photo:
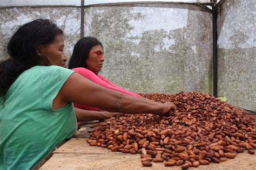
[(73, 103), (52, 109), (72, 73), (58, 66), (35, 66), (11, 85), (0, 106), (0, 169), (34, 168), (76, 132)]

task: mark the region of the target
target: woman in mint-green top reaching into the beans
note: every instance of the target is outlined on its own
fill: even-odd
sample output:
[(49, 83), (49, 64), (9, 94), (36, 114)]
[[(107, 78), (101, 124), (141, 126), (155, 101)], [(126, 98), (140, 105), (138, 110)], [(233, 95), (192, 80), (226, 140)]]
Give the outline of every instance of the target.
[(10, 58), (0, 62), (0, 169), (34, 168), (72, 137), (73, 102), (127, 114), (165, 115), (176, 109), (170, 102), (104, 88), (63, 68), (63, 48), (63, 31), (47, 19), (24, 24), (11, 37)]

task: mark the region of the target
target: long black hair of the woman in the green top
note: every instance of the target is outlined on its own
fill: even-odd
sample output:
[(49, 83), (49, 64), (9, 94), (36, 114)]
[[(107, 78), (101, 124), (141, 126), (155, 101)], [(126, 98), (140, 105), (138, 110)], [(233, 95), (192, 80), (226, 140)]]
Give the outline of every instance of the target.
[(57, 34), (63, 31), (48, 19), (36, 19), (19, 27), (8, 42), (10, 58), (0, 62), (0, 97), (4, 99), (11, 84), (25, 70), (49, 65), (48, 59), (37, 54), (36, 47), (51, 44)]

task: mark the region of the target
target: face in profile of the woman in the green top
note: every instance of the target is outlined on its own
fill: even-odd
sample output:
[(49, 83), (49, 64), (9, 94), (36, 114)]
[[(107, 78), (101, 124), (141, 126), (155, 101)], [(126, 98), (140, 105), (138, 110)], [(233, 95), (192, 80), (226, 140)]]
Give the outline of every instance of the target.
[(49, 60), (50, 65), (61, 66), (66, 68), (66, 61), (68, 60), (68, 58), (66, 58), (63, 48), (64, 38), (62, 34), (57, 34), (57, 36), (51, 44), (39, 46), (38, 54), (45, 56)]

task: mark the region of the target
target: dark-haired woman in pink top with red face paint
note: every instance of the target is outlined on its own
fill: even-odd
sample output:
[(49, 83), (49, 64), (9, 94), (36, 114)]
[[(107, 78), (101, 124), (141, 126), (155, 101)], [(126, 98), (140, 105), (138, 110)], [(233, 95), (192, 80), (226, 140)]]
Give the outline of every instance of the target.
[[(108, 81), (102, 75), (98, 75), (100, 69), (102, 69), (103, 63), (104, 57), (102, 43), (98, 41), (95, 37), (84, 37), (77, 42), (73, 49), (73, 54), (69, 61), (69, 69), (75, 70), (80, 75), (86, 77), (92, 82), (95, 82), (96, 84), (99, 84), (100, 86), (116, 90), (134, 97), (140, 97), (140, 95), (136, 93), (132, 93), (131, 91), (127, 91), (123, 88), (116, 86), (116, 84)], [(99, 108), (92, 108), (86, 105), (76, 103), (74, 103), (74, 105), (76, 108), (83, 110), (100, 111), (97, 113), (88, 112), (88, 114), (95, 116), (95, 119), (103, 119), (114, 116), (113, 113), (110, 114), (110, 112), (105, 112), (103, 110), (100, 110)], [(103, 118), (100, 118), (102, 116), (97, 116), (99, 114), (101, 114)]]

